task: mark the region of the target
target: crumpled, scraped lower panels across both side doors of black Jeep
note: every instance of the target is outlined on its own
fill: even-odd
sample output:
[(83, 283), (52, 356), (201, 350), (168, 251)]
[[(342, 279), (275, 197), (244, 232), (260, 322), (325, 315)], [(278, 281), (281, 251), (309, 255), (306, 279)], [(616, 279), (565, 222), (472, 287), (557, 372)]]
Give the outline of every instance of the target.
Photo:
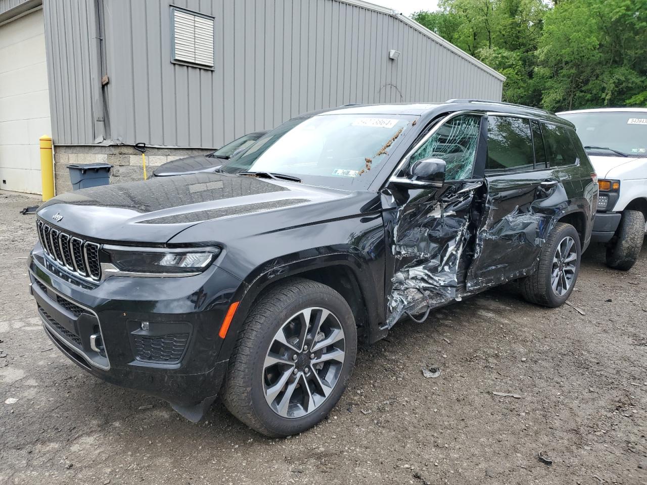
[[(558, 218), (542, 211), (546, 199), (513, 206), (503, 215), (498, 198), (485, 196), (489, 190), (484, 184), (450, 187), (428, 211), (416, 210), (416, 204), (400, 206), (391, 248), (400, 264), (391, 279), (389, 328), (405, 314), (413, 318), (412, 314), (460, 301), (536, 268)], [(479, 211), (485, 217), (470, 210), (479, 197), (485, 199)]]

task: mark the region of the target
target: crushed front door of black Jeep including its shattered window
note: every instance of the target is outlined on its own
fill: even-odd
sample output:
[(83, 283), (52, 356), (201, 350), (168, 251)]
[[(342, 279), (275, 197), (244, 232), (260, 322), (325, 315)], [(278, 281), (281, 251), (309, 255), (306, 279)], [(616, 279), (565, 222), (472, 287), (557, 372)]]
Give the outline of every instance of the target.
[[(398, 177), (423, 158), (446, 162), (441, 188), (401, 189), (382, 194), (392, 277), (387, 281), (387, 325), (404, 314), (460, 299), (461, 263), (470, 239), (472, 203), (483, 180), (472, 178), (479, 144), (481, 116), (460, 114), (433, 127), (428, 138), (404, 158)], [(464, 268), (464, 266), (463, 266)], [(389, 268), (387, 268), (389, 270)], [(464, 272), (464, 271), (463, 271)]]

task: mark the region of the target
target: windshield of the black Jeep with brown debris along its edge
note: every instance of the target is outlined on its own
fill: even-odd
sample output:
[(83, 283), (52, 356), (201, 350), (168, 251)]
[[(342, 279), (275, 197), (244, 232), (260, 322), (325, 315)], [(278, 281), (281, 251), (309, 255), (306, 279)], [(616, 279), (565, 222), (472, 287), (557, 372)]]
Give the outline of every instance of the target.
[(318, 114), (294, 118), (236, 155), (222, 171), (292, 175), (306, 184), (366, 189), (417, 116)]

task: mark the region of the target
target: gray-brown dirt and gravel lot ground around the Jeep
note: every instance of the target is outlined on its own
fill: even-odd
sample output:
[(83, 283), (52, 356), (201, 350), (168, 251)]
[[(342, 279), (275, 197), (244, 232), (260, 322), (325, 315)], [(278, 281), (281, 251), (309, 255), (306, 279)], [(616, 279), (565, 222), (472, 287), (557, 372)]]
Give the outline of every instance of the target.
[(27, 292), (34, 215), (18, 213), (37, 202), (0, 193), (1, 484), (647, 483), (647, 245), (628, 273), (584, 255), (585, 315), (505, 288), (398, 325), (328, 420), (269, 440), (220, 404), (192, 424), (53, 348)]

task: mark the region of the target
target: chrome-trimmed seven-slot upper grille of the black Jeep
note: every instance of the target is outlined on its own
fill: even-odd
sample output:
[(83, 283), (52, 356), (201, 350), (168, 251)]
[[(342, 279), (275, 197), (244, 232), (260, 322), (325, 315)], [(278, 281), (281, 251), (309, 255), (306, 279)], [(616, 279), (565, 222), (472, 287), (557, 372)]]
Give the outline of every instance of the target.
[(36, 221), (36, 230), (43, 250), (53, 261), (83, 277), (101, 279), (99, 244), (72, 237), (43, 221)]

